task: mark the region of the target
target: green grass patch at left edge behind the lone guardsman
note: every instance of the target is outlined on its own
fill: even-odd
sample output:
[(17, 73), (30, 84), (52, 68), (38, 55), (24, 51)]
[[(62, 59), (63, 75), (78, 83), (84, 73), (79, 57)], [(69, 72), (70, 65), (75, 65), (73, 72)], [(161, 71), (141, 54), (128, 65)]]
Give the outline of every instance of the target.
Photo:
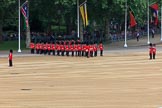
[[(0, 50), (10, 50), (10, 49), (18, 50), (18, 41), (17, 40), (0, 42)], [(27, 49), (25, 47), (24, 40), (21, 40), (21, 42), (20, 42), (20, 49), (21, 50)]]

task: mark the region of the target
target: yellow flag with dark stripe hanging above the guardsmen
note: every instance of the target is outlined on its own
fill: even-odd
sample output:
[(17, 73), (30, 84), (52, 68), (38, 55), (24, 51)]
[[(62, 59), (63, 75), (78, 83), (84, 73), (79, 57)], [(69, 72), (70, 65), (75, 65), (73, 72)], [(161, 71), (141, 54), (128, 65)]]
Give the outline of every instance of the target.
[(88, 26), (87, 4), (86, 1), (80, 5), (80, 13), (83, 19), (84, 27)]

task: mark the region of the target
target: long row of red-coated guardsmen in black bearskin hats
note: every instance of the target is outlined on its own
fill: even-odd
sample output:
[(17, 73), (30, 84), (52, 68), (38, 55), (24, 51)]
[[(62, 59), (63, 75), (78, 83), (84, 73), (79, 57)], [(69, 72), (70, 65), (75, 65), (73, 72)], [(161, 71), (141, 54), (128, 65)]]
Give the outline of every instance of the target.
[[(103, 44), (100, 42), (99, 45), (96, 43), (88, 44), (80, 41), (57, 41), (55, 42), (40, 42), (34, 44), (30, 43), (31, 54), (48, 54), (57, 56), (85, 56), (96, 57), (97, 51), (100, 50), (100, 56), (103, 56)], [(70, 54), (71, 53), (71, 54)]]

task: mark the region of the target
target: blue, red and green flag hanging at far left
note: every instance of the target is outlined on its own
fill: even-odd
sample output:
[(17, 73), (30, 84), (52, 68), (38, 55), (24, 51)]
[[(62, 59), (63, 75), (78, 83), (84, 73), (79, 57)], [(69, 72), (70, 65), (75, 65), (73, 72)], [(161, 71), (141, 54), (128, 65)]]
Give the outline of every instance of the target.
[(24, 18), (25, 18), (25, 22), (26, 22), (26, 27), (29, 26), (29, 17), (28, 17), (28, 3), (27, 1), (25, 3), (22, 4), (21, 6), (21, 13), (23, 14)]

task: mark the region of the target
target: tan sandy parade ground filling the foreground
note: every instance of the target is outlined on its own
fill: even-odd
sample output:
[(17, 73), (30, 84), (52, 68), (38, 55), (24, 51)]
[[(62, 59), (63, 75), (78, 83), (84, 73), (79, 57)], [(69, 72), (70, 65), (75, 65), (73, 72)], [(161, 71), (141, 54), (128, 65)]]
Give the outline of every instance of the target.
[[(103, 57), (0, 53), (0, 108), (159, 108), (162, 50), (106, 47)], [(109, 50), (110, 48), (110, 50)]]

